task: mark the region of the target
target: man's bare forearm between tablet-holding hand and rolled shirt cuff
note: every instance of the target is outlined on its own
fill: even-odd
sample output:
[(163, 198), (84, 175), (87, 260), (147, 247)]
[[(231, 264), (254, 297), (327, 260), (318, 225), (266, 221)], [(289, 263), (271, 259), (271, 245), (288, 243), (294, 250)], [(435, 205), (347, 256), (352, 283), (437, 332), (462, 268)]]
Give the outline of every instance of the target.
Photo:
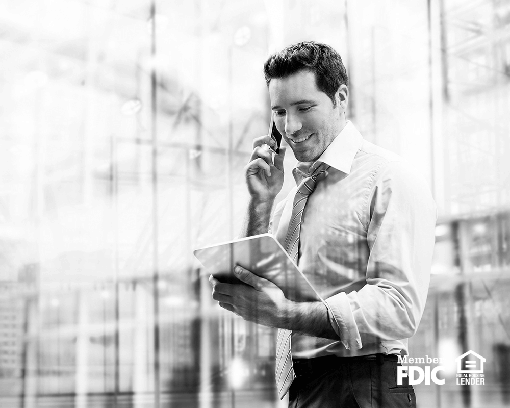
[(329, 322), (326, 306), (322, 302), (292, 302), (282, 328), (296, 333), (340, 340)]

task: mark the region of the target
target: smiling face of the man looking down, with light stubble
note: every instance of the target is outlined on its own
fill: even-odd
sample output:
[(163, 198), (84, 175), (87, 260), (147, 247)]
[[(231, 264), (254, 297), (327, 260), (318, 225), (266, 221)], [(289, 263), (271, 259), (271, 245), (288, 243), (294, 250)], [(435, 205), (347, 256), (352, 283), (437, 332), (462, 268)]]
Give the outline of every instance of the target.
[(342, 96), (333, 107), (331, 99), (317, 88), (315, 74), (309, 71), (269, 82), (274, 122), (297, 160), (317, 160), (342, 130), (345, 117), (341, 114), (346, 106), (346, 100), (339, 103)]

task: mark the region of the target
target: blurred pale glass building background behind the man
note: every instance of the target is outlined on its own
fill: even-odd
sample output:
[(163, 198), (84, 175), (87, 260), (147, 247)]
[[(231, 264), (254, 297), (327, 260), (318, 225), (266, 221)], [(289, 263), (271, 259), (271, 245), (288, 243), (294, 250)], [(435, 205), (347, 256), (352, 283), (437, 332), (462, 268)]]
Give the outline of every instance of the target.
[[(344, 59), (348, 118), (438, 204), (410, 355), (442, 357), (446, 384), (419, 406), (510, 406), (509, 0), (11, 0), (2, 408), (282, 406), (274, 332), (220, 309), (192, 250), (237, 235), (263, 62), (310, 39)], [(484, 386), (455, 384), (470, 349)]]

